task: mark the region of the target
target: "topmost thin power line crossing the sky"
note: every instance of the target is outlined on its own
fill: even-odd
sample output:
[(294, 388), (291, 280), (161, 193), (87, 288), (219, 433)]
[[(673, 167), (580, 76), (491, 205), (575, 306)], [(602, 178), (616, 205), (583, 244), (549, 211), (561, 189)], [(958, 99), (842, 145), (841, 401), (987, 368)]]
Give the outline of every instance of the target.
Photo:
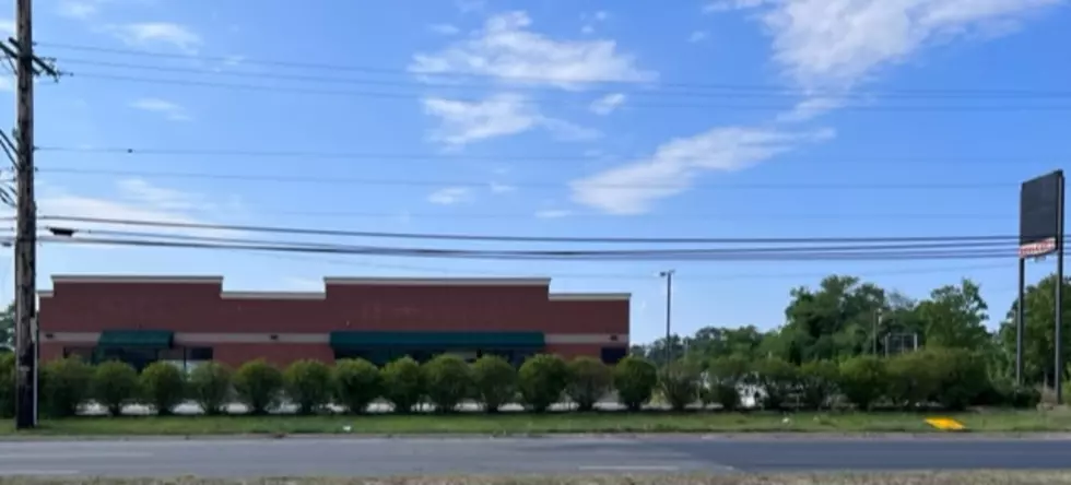
[[(140, 58), (153, 58), (153, 59), (185, 59), (190, 61), (200, 62), (221, 62), (224, 64), (234, 64), (236, 58), (234, 56), (203, 56), (203, 55), (185, 55), (185, 54), (174, 54), (174, 52), (154, 52), (146, 50), (134, 50), (134, 49), (120, 49), (101, 46), (86, 46), (86, 45), (74, 45), (74, 44), (63, 44), (63, 43), (38, 43), (38, 45), (47, 46), (57, 50), (73, 50), (82, 52), (101, 52), (118, 56), (128, 57), (140, 57)], [(570, 82), (574, 84), (582, 85), (650, 85), (657, 84), (659, 87), (670, 87), (670, 88), (692, 88), (692, 90), (757, 90), (757, 91), (797, 91), (785, 87), (784, 85), (774, 84), (726, 84), (726, 83), (670, 83), (670, 82), (656, 82), (656, 83), (642, 83), (632, 81), (621, 81), (621, 80), (607, 80), (607, 79), (586, 79), (586, 80), (562, 80), (558, 78), (540, 78), (540, 76), (496, 76), (492, 74), (480, 74), (480, 73), (414, 73), (408, 70), (400, 70), (397, 68), (380, 68), (380, 67), (368, 67), (368, 66), (346, 66), (337, 63), (316, 63), (316, 62), (303, 62), (295, 60), (280, 60), (280, 59), (240, 59), (237, 63), (243, 66), (271, 66), (280, 68), (294, 68), (302, 71), (319, 70), (319, 71), (334, 71), (334, 72), (362, 72), (369, 74), (393, 74), (403, 75), (407, 78), (413, 76), (414, 74), (422, 74), (434, 78), (455, 78), (455, 79), (493, 79), (493, 80), (510, 80), (510, 81), (522, 81), (522, 82), (544, 82), (544, 83), (562, 83)], [(1023, 90), (1021, 87), (1016, 88), (886, 88), (883, 90), (884, 93), (896, 93), (896, 94), (933, 94), (933, 95), (953, 95), (953, 94), (970, 94), (976, 96), (1000, 96), (1000, 95), (1036, 95), (1036, 94), (1054, 94), (1054, 95), (1071, 95), (1071, 92), (1067, 91), (1049, 91), (1049, 90)], [(811, 94), (822, 94), (821, 92), (810, 92)], [(844, 93), (837, 91), (834, 94), (837, 96)], [(870, 93), (873, 94), (873, 93)]]

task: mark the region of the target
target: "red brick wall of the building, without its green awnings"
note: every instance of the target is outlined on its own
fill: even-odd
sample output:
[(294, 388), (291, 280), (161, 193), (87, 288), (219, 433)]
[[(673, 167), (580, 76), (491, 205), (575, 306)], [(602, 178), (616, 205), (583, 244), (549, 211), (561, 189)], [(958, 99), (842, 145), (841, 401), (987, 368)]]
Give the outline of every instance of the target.
[[(378, 286), (328, 285), (326, 299), (233, 299), (221, 284), (58, 282), (40, 299), (42, 333), (116, 329), (195, 333), (327, 333), (384, 331), (540, 331), (548, 334), (616, 334), (627, 344), (627, 300), (551, 300), (545, 285)], [(74, 346), (74, 344), (66, 344)], [(42, 345), (42, 357), (64, 344)], [(240, 364), (266, 357), (331, 360), (323, 344), (215, 344), (215, 358)], [(555, 344), (566, 356), (598, 356), (601, 345)]]

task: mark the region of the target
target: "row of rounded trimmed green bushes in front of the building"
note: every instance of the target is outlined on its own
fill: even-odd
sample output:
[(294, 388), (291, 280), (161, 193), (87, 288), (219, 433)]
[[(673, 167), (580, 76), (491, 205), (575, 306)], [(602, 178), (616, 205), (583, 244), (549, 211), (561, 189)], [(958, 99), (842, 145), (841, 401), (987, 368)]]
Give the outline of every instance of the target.
[[(14, 411), (13, 356), (0, 356), (0, 414)], [(855, 357), (840, 363), (812, 362), (795, 366), (776, 358), (749, 362), (726, 356), (707, 363), (682, 360), (658, 369), (651, 362), (629, 356), (614, 366), (579, 357), (566, 362), (537, 355), (514, 369), (506, 360), (485, 356), (473, 364), (440, 355), (421, 365), (409, 357), (382, 369), (361, 359), (333, 367), (299, 360), (285, 369), (263, 359), (235, 370), (205, 363), (189, 375), (167, 363), (155, 363), (140, 375), (119, 362), (91, 366), (78, 358), (46, 363), (40, 375), (42, 410), (49, 416), (73, 416), (93, 401), (111, 415), (128, 404), (144, 404), (166, 415), (186, 401), (207, 414), (223, 414), (237, 401), (250, 414), (266, 414), (290, 402), (298, 414), (315, 414), (334, 404), (363, 413), (384, 399), (396, 413), (410, 413), (422, 404), (450, 413), (474, 401), (487, 413), (518, 402), (532, 412), (545, 412), (563, 398), (579, 411), (614, 393), (631, 411), (638, 411), (659, 394), (673, 410), (695, 403), (726, 411), (741, 407), (741, 392), (755, 393), (766, 410), (855, 407), (962, 410), (968, 405), (1035, 406), (1040, 394), (993, 381), (985, 362), (966, 351), (927, 350), (882, 359)]]

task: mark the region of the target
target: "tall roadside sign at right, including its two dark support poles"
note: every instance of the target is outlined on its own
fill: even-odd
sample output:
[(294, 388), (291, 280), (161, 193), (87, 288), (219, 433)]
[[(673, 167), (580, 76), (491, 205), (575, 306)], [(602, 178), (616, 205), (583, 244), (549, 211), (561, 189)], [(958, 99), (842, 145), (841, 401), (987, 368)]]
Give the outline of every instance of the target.
[(1054, 390), (1063, 403), (1063, 170), (1023, 182), (1019, 215), (1019, 305), (1015, 311), (1015, 376), (1022, 383), (1023, 339), (1026, 327), (1025, 262), (1056, 253), (1056, 307), (1054, 315)]

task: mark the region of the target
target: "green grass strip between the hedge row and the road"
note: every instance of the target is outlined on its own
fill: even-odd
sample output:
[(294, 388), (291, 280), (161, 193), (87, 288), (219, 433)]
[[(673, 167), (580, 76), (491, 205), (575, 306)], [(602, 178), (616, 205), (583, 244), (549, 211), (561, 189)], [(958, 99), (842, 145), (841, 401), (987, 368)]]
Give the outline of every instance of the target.
[[(562, 433), (941, 433), (913, 413), (562, 413), (370, 416), (128, 416), (46, 419), (30, 435), (479, 434)], [(993, 411), (940, 414), (976, 433), (1071, 431), (1071, 412)], [(349, 427), (349, 429), (346, 429)], [(10, 421), (0, 436), (13, 435)]]

